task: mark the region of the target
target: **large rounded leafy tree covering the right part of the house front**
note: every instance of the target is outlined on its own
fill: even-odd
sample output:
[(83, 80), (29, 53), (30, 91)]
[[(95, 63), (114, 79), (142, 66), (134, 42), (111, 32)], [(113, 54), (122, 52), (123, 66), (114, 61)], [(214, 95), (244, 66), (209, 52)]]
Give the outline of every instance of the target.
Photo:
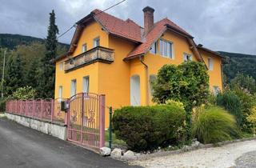
[(186, 110), (186, 131), (190, 138), (191, 112), (195, 106), (207, 102), (209, 76), (201, 62), (183, 62), (181, 65), (165, 65), (158, 71), (153, 86), (153, 101), (164, 103), (168, 99), (180, 101)]

